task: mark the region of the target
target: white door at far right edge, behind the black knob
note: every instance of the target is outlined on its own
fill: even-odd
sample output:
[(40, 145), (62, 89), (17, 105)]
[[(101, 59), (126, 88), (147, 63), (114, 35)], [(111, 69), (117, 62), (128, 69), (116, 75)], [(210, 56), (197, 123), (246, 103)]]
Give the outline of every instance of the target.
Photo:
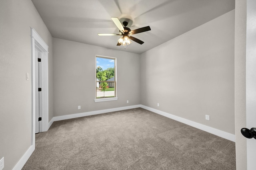
[[(247, 0), (246, 11), (246, 127), (256, 127), (256, 2)], [(255, 139), (246, 139), (247, 169), (255, 169)]]

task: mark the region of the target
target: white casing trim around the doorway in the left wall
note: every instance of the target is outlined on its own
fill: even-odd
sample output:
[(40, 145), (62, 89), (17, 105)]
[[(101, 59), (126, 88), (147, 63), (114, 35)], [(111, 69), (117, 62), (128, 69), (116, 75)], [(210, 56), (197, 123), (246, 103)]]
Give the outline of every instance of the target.
[(42, 64), (42, 132), (48, 130), (48, 45), (38, 35), (35, 29), (30, 28), (31, 31), (31, 52), (32, 52), (32, 70), (31, 70), (31, 82), (32, 82), (32, 139), (31, 145), (35, 146), (35, 115), (36, 115), (36, 75), (35, 75), (35, 48), (41, 52), (41, 64)]

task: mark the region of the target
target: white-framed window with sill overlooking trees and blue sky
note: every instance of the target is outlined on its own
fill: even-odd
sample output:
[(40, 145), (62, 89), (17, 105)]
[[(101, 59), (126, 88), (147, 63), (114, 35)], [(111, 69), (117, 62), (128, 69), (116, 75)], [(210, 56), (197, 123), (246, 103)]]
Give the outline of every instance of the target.
[(117, 100), (116, 58), (96, 56), (95, 102)]

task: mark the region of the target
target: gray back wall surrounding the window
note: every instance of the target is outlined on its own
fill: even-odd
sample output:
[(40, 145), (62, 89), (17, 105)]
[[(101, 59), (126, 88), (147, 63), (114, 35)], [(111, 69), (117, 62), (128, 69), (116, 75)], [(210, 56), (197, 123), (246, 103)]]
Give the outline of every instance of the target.
[[(138, 54), (57, 38), (53, 39), (53, 46), (54, 116), (140, 104)], [(117, 101), (94, 102), (96, 55), (116, 57)]]

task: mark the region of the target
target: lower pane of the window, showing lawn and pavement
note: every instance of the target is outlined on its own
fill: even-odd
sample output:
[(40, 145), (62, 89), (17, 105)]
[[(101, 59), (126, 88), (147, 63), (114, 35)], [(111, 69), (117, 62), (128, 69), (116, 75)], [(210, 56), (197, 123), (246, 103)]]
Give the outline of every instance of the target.
[[(98, 83), (98, 82), (97, 82)], [(106, 84), (105, 84), (106, 83)], [(115, 97), (115, 83), (112, 83), (113, 87), (108, 86), (107, 82), (99, 82), (99, 86), (96, 85), (96, 98), (114, 98)], [(106, 88), (102, 88), (106, 85)]]

